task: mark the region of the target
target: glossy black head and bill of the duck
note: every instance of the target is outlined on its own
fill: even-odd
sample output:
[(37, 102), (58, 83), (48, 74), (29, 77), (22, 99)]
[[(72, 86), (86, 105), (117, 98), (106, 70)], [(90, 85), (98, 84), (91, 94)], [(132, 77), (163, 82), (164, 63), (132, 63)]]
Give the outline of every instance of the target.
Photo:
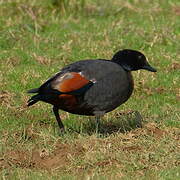
[(136, 71), (146, 69), (151, 72), (156, 72), (156, 69), (151, 67), (147, 62), (146, 57), (139, 51), (124, 49), (118, 51), (112, 58), (113, 62), (121, 65), (126, 71)]

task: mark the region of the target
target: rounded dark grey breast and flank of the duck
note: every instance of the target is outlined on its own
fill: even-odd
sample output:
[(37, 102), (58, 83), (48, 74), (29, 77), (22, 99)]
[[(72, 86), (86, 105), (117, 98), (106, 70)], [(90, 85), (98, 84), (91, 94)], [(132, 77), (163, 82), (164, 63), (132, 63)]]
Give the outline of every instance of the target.
[(103, 78), (86, 92), (84, 102), (93, 111), (109, 112), (126, 102), (133, 92), (133, 79), (130, 72), (119, 65), (105, 73)]

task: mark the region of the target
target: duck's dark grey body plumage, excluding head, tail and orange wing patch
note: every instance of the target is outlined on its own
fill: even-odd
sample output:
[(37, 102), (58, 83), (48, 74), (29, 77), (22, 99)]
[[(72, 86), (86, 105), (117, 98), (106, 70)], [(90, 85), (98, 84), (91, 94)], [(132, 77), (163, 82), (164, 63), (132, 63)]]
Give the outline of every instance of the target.
[(51, 101), (49, 98), (48, 103), (56, 106), (59, 104), (59, 109), (70, 113), (94, 115), (96, 112), (112, 111), (127, 101), (133, 91), (131, 73), (108, 60), (83, 60), (70, 64), (41, 87), (51, 87), (55, 79), (67, 72), (82, 72), (86, 79), (95, 81), (83, 95), (76, 96), (78, 104), (74, 108), (65, 106), (63, 102)]

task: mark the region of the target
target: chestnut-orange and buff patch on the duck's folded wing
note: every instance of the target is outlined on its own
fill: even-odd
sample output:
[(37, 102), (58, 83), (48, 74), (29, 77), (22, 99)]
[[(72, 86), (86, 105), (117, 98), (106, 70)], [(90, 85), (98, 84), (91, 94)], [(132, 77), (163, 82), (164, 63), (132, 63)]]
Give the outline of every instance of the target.
[(67, 72), (57, 77), (51, 84), (52, 88), (62, 94), (78, 95), (85, 92), (93, 85), (82, 73)]

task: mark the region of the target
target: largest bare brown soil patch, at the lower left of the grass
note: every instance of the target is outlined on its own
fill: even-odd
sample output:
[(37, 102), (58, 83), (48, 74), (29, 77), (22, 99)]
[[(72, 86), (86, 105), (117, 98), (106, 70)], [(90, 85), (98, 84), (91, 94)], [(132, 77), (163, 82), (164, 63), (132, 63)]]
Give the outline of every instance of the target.
[(21, 167), (44, 170), (64, 169), (70, 164), (71, 157), (83, 154), (80, 145), (57, 144), (52, 153), (46, 150), (34, 149), (31, 152), (23, 150), (12, 150), (0, 157), (0, 169)]

